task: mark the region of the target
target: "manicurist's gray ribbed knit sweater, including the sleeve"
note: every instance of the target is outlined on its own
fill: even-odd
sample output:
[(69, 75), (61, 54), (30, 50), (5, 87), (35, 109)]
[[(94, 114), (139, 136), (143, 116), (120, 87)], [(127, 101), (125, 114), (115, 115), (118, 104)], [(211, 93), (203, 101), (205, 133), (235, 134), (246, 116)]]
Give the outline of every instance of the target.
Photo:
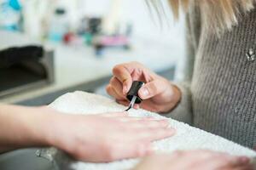
[(200, 12), (188, 16), (183, 97), (170, 116), (236, 143), (256, 146), (256, 9), (221, 37), (205, 34)]

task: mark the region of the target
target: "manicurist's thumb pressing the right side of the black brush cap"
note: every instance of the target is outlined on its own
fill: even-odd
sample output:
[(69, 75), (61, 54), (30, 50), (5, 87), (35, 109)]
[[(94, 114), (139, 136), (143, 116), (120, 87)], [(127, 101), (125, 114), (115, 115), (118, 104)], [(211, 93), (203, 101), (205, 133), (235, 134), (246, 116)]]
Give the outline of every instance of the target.
[(165, 82), (154, 80), (146, 83), (138, 92), (142, 99), (150, 99), (166, 90)]

